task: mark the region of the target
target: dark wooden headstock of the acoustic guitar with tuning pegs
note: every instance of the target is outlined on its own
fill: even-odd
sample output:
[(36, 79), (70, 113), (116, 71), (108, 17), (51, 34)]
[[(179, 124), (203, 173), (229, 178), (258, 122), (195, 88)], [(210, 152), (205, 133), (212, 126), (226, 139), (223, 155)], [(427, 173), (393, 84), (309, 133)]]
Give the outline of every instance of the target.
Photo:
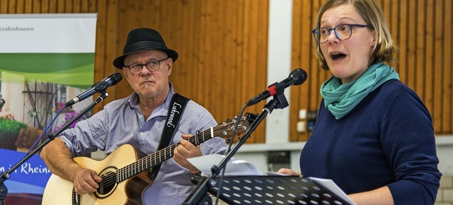
[(239, 119), (237, 116), (234, 119), (226, 119), (225, 122), (213, 127), (213, 136), (230, 139), (237, 120), (239, 120), (239, 123), (236, 128), (236, 134), (243, 134), (250, 128), (250, 125), (255, 121), (256, 117), (258, 117), (258, 115), (247, 112), (246, 115), (243, 115)]

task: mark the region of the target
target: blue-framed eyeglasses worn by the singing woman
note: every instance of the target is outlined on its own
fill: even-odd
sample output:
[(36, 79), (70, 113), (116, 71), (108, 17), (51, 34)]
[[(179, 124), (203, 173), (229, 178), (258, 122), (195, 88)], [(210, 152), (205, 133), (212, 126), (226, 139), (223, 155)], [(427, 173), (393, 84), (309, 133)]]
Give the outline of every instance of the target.
[(313, 33), (316, 42), (321, 44), (327, 42), (328, 36), (331, 35), (332, 30), (339, 40), (348, 40), (352, 35), (353, 27), (367, 28), (369, 26), (362, 24), (338, 24), (335, 28), (316, 28), (311, 30), (311, 33)]

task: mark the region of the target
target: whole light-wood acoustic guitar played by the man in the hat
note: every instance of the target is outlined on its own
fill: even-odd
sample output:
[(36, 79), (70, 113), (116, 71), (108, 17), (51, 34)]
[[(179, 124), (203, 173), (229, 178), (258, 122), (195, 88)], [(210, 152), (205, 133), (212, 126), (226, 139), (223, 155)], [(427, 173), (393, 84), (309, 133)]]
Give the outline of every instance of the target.
[[(256, 119), (247, 113), (239, 119), (236, 134), (242, 134)], [(214, 137), (229, 139), (234, 131), (235, 119), (228, 119), (188, 138), (193, 145), (199, 145)], [(142, 204), (142, 192), (152, 184), (149, 169), (173, 157), (173, 150), (180, 143), (172, 144), (147, 156), (130, 144), (118, 147), (103, 160), (76, 157), (76, 163), (90, 168), (102, 177), (96, 192), (79, 195), (74, 192), (73, 182), (57, 175), (51, 175), (45, 186), (42, 204)]]

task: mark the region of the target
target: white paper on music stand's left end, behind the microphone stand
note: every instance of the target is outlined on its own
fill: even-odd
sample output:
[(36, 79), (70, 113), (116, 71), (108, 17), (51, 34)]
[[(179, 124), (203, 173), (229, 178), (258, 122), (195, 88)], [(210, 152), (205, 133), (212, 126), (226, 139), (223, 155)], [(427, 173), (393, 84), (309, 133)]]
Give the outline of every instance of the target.
[[(202, 175), (210, 175), (212, 166), (219, 165), (224, 158), (225, 156), (219, 154), (210, 154), (188, 158), (188, 161), (194, 165), (195, 168), (200, 170)], [(245, 160), (230, 158), (229, 162), (226, 163), (225, 175), (263, 175), (263, 172), (261, 172), (256, 165), (248, 163)]]

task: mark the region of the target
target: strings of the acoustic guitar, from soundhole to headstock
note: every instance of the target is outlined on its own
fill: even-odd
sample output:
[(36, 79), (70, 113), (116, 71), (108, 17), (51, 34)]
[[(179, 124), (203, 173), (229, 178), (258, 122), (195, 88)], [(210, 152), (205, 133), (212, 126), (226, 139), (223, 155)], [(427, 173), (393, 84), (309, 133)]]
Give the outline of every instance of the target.
[[(231, 124), (231, 122), (226, 123), (226, 124), (219, 124), (218, 126), (213, 127), (212, 128), (213, 135), (216, 136), (214, 133), (217, 133), (219, 130), (223, 130), (224, 129), (223, 127), (227, 127), (229, 124)], [(220, 126), (220, 125), (222, 125), (222, 126)], [(190, 143), (192, 143), (192, 144), (198, 145), (198, 143), (201, 144), (204, 141), (206, 141), (205, 136), (209, 137), (208, 139), (211, 139), (212, 137), (214, 137), (214, 136), (212, 136), (212, 137), (210, 136), (211, 129), (202, 131), (200, 136), (198, 136), (198, 134), (200, 134), (200, 133), (195, 134), (195, 136), (189, 137), (188, 141), (190, 141)], [(220, 135), (222, 136), (224, 134), (222, 132), (220, 132)], [(180, 145), (180, 142), (164, 148), (163, 149), (164, 160), (167, 160), (168, 158), (173, 157), (173, 150), (179, 145)], [(164, 160), (161, 159), (161, 157), (162, 157), (160, 154), (161, 151), (157, 151), (156, 153), (152, 153), (149, 156), (140, 158), (139, 160), (137, 160), (137, 162), (127, 165), (124, 168), (118, 169), (117, 172), (115, 172), (115, 174), (103, 175), (101, 184), (103, 184), (104, 187), (113, 186), (116, 183), (122, 182), (123, 180), (126, 180), (134, 175), (137, 175), (138, 173), (146, 170), (148, 167), (150, 167), (150, 168), (154, 167), (155, 165), (158, 164), (157, 163), (158, 161), (159, 161), (159, 163), (163, 163)], [(159, 156), (159, 160), (157, 160), (157, 156)], [(154, 165), (151, 164), (153, 161), (154, 161)], [(100, 186), (100, 188), (98, 188), (98, 189), (101, 189), (101, 187), (102, 186)]]

